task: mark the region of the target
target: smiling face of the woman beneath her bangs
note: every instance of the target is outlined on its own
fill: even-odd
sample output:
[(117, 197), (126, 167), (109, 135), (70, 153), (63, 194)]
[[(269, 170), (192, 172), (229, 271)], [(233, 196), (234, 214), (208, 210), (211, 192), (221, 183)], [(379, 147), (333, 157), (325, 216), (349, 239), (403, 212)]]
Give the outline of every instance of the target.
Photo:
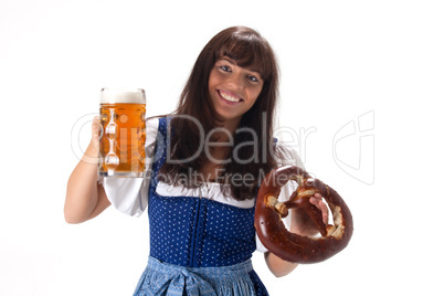
[(237, 127), (256, 102), (264, 82), (254, 68), (241, 67), (228, 56), (218, 60), (211, 70), (209, 92), (218, 119), (225, 128)]

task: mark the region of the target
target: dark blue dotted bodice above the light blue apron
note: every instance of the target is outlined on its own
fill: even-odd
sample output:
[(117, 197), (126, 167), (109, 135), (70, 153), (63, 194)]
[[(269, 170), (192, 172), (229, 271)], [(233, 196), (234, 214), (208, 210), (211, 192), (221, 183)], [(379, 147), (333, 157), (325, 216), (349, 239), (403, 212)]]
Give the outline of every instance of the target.
[(149, 190), (150, 255), (190, 267), (242, 263), (255, 251), (254, 208), (241, 209), (201, 197), (161, 197), (156, 175), (165, 161), (167, 120), (159, 135)]

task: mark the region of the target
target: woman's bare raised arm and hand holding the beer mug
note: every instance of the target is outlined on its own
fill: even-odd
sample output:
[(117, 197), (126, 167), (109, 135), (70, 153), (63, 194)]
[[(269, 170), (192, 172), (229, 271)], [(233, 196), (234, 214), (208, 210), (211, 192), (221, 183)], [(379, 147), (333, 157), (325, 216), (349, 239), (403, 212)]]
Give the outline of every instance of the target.
[(109, 207), (104, 188), (97, 183), (98, 117), (93, 121), (93, 137), (66, 188), (64, 214), (67, 223), (82, 223)]

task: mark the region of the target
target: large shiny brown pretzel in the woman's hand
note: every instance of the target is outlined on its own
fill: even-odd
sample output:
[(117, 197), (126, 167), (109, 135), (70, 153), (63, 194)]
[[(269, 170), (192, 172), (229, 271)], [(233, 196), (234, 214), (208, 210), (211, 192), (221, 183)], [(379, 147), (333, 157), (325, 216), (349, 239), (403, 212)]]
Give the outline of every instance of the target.
[[(281, 188), (288, 180), (295, 180), (298, 188), (288, 201), (279, 202)], [(328, 204), (334, 225), (324, 224), (321, 211), (309, 202), (315, 193), (320, 193)], [(287, 231), (281, 218), (292, 208), (304, 209), (321, 235), (307, 237)], [(351, 239), (353, 220), (346, 202), (332, 188), (313, 179), (304, 169), (289, 166), (272, 170), (262, 182), (254, 226), (268, 251), (285, 261), (308, 264), (323, 262), (342, 251)]]

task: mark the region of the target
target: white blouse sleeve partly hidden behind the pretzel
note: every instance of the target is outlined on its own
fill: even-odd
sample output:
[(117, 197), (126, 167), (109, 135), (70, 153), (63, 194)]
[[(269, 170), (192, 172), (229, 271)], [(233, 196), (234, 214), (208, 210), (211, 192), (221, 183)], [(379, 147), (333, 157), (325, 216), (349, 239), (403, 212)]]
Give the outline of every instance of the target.
[[(276, 142), (276, 165), (277, 167), (284, 167), (284, 166), (297, 166), (302, 169), (305, 169), (299, 156), (297, 155), (296, 150), (285, 142)], [(289, 181), (285, 186), (282, 187), (281, 189), (281, 194), (278, 200), (281, 202), (285, 202), (289, 199), (292, 193), (297, 189), (297, 183)], [(289, 226), (292, 224), (292, 211), (288, 211), (288, 215), (282, 220), (284, 222), (284, 225), (287, 230), (289, 230)], [(261, 242), (256, 234), (256, 250), (265, 253), (268, 251)]]

